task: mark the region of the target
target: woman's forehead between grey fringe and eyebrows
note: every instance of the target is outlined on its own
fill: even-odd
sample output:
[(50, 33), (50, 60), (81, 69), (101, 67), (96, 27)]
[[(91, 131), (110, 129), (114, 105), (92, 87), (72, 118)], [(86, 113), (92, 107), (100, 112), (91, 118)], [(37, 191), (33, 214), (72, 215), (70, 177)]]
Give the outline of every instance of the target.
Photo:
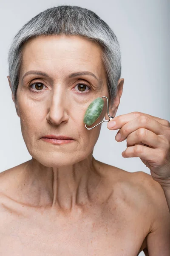
[(23, 45), (22, 68), (66, 70), (88, 68), (102, 72), (102, 48), (95, 41), (79, 35), (50, 35), (29, 39)]

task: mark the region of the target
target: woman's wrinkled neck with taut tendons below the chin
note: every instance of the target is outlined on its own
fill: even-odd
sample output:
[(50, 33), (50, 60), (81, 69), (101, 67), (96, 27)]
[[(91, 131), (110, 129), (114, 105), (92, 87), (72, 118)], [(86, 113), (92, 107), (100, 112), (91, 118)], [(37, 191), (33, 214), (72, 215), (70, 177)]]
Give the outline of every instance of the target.
[(64, 167), (46, 167), (32, 158), (20, 176), (22, 198), (36, 207), (50, 206), (71, 211), (91, 201), (101, 175), (98, 161), (88, 158)]

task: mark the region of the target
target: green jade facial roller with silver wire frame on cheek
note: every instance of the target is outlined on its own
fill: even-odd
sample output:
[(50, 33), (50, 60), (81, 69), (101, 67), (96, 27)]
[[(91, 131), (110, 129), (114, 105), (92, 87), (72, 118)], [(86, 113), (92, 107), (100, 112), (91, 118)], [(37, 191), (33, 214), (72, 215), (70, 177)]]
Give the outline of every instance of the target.
[(109, 115), (109, 102), (108, 102), (108, 116), (110, 117), (109, 120), (103, 120), (102, 122), (99, 122), (97, 125), (95, 125), (92, 128), (87, 128), (87, 125), (92, 125), (100, 116), (103, 110), (104, 106), (104, 100), (102, 98), (106, 98), (108, 102), (108, 98), (105, 96), (102, 96), (101, 98), (96, 98), (91, 104), (88, 106), (87, 110), (85, 111), (85, 116), (83, 119), (83, 122), (85, 123), (85, 128), (88, 130), (93, 129), (97, 125), (101, 124), (102, 122), (109, 122), (111, 119), (113, 119), (113, 116)]

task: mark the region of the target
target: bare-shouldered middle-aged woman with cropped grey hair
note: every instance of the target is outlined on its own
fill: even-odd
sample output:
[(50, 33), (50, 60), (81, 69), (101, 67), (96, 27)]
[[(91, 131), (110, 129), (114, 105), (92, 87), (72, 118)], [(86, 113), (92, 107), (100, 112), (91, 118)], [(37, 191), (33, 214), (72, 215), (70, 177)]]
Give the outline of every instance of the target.
[[(0, 173), (0, 255), (169, 256), (170, 123), (115, 117), (124, 79), (111, 28), (78, 6), (47, 9), (14, 37), (8, 63), (32, 159)], [(94, 159), (101, 124), (88, 130), (83, 119), (102, 96), (107, 127), (127, 139), (122, 156), (140, 157), (151, 175)], [(107, 104), (92, 126), (104, 117)]]

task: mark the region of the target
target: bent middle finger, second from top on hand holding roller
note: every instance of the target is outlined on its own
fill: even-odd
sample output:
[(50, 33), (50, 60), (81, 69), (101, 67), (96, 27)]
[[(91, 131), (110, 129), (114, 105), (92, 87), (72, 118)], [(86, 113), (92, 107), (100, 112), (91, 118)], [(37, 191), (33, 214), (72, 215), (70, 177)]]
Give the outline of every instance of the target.
[(139, 116), (136, 119), (130, 120), (125, 125), (123, 125), (122, 128), (120, 128), (119, 133), (121, 134), (121, 140), (119, 140), (119, 142), (125, 140), (129, 134), (131, 134), (133, 131), (138, 130), (139, 128), (145, 128), (154, 132), (157, 135), (164, 134), (164, 129), (162, 127), (163, 126), (155, 119), (151, 119), (148, 116), (144, 115)]

